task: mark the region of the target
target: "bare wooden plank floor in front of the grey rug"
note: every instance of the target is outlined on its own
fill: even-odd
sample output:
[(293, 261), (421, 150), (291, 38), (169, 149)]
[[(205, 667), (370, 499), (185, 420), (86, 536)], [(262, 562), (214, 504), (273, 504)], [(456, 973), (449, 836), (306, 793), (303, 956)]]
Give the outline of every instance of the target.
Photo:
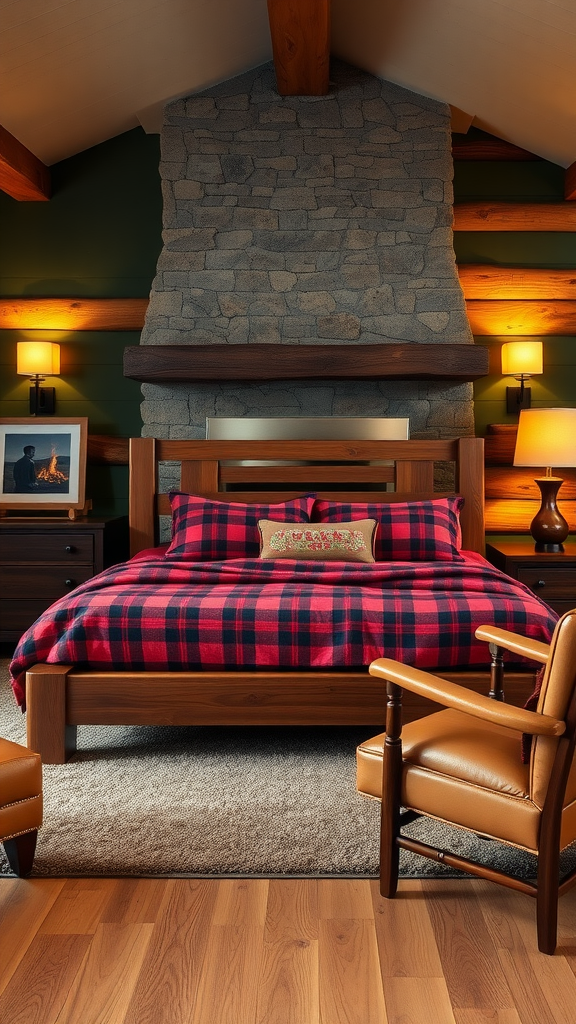
[(2, 879), (1, 1024), (574, 1024), (576, 889), (470, 879)]

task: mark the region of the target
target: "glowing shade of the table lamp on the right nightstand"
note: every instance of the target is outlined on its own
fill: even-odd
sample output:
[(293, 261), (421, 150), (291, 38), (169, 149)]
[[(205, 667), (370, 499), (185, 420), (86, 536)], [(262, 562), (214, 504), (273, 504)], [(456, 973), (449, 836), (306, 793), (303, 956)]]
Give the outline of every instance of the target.
[(576, 466), (576, 409), (523, 409), (515, 466)]

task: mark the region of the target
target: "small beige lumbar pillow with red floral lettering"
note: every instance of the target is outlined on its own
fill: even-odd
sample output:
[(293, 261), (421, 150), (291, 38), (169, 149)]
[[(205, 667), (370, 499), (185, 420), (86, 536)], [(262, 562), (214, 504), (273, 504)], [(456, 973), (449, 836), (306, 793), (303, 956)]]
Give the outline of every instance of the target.
[(375, 519), (297, 526), (260, 519), (260, 558), (303, 558), (323, 562), (373, 562)]

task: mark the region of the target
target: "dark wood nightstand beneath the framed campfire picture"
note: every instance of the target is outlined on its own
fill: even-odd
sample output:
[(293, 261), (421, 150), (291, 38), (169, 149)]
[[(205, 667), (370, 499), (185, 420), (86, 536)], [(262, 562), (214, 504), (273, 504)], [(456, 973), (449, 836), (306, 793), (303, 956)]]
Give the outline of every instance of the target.
[(0, 640), (19, 640), (48, 605), (127, 557), (126, 516), (0, 518)]

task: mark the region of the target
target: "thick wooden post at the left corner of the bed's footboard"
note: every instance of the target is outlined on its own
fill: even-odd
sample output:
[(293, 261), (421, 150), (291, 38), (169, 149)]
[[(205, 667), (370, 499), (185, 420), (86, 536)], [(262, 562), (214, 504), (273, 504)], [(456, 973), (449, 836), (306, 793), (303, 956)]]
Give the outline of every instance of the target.
[(63, 765), (76, 751), (76, 726), (66, 723), (71, 665), (35, 665), (26, 674), (27, 745), (42, 764)]

